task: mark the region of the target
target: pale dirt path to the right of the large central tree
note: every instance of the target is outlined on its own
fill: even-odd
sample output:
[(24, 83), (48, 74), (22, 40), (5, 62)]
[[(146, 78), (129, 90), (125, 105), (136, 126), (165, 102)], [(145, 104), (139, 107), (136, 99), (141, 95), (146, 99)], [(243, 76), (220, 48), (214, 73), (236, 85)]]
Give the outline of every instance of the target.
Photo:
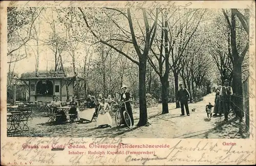
[[(215, 94), (209, 94), (203, 101), (189, 104), (190, 116), (180, 116), (180, 108), (175, 109), (175, 103), (169, 104), (169, 114), (150, 118), (151, 126), (138, 128), (126, 132), (123, 137), (144, 138), (195, 138), (195, 139), (218, 139), (218, 138), (242, 138), (247, 134), (241, 133), (245, 127), (238, 124), (238, 120), (229, 114), (229, 121), (224, 122), (224, 116), (214, 117), (207, 120), (205, 106), (210, 102), (214, 104)], [(191, 112), (196, 108), (195, 112)]]

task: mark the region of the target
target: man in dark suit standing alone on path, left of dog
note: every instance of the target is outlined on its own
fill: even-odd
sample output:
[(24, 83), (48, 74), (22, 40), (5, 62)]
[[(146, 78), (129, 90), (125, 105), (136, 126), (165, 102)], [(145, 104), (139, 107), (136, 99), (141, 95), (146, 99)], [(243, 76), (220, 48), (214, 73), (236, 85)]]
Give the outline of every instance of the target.
[(183, 85), (180, 84), (180, 90), (178, 92), (178, 101), (180, 102), (180, 107), (181, 107), (181, 115), (184, 116), (184, 106), (186, 109), (187, 116), (189, 116), (189, 109), (188, 109), (188, 99), (190, 99), (190, 94), (187, 91), (187, 89), (183, 89)]

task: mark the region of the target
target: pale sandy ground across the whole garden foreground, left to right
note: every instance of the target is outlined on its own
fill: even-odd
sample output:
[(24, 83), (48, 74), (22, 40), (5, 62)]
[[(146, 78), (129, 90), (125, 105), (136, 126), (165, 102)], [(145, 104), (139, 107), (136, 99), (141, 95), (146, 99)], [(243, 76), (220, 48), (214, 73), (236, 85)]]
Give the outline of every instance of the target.
[[(148, 108), (148, 127), (134, 127), (132, 129), (116, 127), (113, 117), (112, 128), (97, 128), (96, 122), (72, 123), (63, 125), (49, 125), (47, 117), (34, 117), (29, 121), (29, 131), (24, 131), (23, 136), (42, 137), (139, 137), (139, 138), (241, 138), (247, 137), (241, 133), (244, 125), (232, 120), (223, 123), (224, 116), (206, 120), (205, 105), (214, 104), (215, 94), (209, 94), (203, 101), (189, 104), (190, 116), (180, 116), (180, 108), (175, 108), (175, 103), (169, 104), (169, 114), (161, 115), (161, 104), (158, 107)], [(196, 108), (195, 112), (191, 112)], [(134, 109), (135, 124), (139, 121), (139, 110)], [(86, 114), (84, 112), (83, 114)]]

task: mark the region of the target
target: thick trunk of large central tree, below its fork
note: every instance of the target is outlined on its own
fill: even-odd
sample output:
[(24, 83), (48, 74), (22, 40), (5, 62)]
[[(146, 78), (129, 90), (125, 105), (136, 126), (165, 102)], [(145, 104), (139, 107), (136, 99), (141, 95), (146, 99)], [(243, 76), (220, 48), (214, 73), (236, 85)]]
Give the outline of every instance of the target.
[(145, 126), (147, 124), (146, 109), (146, 60), (140, 60), (139, 64), (139, 102), (140, 102), (140, 119), (137, 126)]

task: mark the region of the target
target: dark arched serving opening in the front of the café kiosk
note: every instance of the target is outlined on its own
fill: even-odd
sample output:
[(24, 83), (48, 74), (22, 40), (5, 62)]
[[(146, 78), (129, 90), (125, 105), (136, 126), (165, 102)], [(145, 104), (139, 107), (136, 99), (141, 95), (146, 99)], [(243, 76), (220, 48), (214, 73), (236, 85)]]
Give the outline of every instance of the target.
[(40, 80), (36, 84), (36, 94), (53, 95), (53, 84), (49, 80)]

